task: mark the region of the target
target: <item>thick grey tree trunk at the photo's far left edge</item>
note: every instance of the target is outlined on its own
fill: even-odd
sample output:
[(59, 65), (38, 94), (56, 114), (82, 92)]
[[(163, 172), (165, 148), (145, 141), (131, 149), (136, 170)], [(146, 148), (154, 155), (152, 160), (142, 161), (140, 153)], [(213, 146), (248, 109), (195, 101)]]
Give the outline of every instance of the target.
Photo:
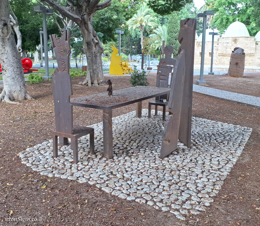
[(0, 62), (4, 89), (0, 94), (0, 102), (32, 99), (25, 89), (23, 67), (20, 54), (16, 48), (14, 33), (9, 19), (10, 5), (8, 0), (0, 2)]

